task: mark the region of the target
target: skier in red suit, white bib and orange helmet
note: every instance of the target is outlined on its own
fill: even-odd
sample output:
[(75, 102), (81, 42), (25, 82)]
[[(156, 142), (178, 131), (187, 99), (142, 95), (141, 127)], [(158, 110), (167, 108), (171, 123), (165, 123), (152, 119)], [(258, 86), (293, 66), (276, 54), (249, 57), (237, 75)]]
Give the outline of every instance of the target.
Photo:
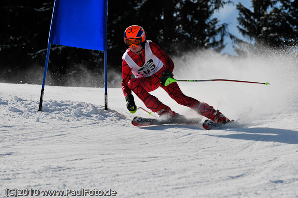
[[(161, 119), (179, 116), (170, 107), (160, 102), (150, 91), (163, 88), (178, 104), (187, 106), (202, 116), (217, 123), (228, 123), (219, 110), (204, 102), (185, 96), (178, 84), (173, 82), (164, 86), (168, 77), (173, 77), (174, 63), (158, 45), (146, 40), (145, 31), (141, 26), (132, 25), (124, 32), (124, 42), (128, 49), (122, 59), (122, 90), (127, 102), (127, 109), (131, 113), (137, 111), (132, 91), (144, 102), (152, 112), (156, 112)], [(132, 73), (135, 78), (131, 78)]]

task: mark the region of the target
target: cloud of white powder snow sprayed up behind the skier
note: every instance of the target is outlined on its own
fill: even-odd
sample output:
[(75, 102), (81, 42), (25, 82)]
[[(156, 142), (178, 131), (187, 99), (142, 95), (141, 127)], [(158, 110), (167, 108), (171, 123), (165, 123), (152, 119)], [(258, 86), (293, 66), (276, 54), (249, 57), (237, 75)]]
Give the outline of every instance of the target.
[[(237, 79), (270, 82), (270, 86), (233, 82), (178, 82), (181, 90), (220, 109), (231, 119), (250, 122), (292, 111), (298, 106), (298, 52), (262, 49), (246, 56), (226, 56), (198, 51), (172, 58), (177, 79)], [(296, 109), (296, 108), (294, 108)], [(271, 117), (272, 118), (272, 117)]]

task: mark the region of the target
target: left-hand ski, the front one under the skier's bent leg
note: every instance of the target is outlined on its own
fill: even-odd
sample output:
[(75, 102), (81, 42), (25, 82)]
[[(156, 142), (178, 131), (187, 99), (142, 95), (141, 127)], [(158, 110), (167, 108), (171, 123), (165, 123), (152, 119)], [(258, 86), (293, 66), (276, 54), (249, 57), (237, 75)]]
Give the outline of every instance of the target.
[(151, 125), (170, 125), (170, 124), (198, 124), (201, 120), (198, 118), (185, 118), (183, 116), (172, 118), (170, 120), (161, 120), (155, 118), (135, 117), (132, 124), (136, 127), (144, 127)]

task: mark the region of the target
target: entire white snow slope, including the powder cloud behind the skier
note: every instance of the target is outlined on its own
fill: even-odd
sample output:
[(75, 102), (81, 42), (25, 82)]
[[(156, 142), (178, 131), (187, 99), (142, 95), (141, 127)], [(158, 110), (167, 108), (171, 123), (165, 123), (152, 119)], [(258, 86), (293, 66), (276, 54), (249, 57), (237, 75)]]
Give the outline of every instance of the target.
[[(6, 188), (112, 189), (119, 198), (298, 197), (298, 85), (295, 56), (230, 59), (194, 54), (174, 59), (188, 96), (236, 124), (206, 131), (205, 118), (161, 88), (151, 92), (195, 125), (134, 127), (121, 88), (0, 83), (0, 196)], [(138, 107), (146, 106), (136, 96)], [(149, 111), (149, 109), (147, 109)], [(69, 195), (69, 197), (71, 197)]]

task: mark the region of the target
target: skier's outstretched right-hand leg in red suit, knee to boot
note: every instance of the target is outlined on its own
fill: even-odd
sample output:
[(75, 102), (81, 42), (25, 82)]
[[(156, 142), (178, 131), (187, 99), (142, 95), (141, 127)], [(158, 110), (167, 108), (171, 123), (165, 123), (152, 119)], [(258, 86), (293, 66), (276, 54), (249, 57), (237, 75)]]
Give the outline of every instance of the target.
[[(216, 111), (213, 106), (207, 103), (200, 102), (192, 97), (184, 95), (184, 93), (179, 88), (176, 82), (169, 84), (168, 86), (161, 87), (173, 98), (178, 104), (187, 106), (194, 111), (198, 112), (200, 115), (213, 120), (215, 122), (229, 122), (229, 120), (222, 115), (221, 112)], [(219, 119), (220, 118), (220, 119)]]

